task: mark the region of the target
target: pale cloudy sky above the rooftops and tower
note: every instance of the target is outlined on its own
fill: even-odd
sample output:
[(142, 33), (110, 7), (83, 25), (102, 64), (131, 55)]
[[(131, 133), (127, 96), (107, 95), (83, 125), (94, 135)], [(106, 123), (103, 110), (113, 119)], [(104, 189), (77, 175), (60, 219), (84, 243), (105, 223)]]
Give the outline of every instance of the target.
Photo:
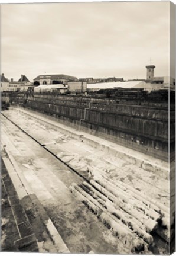
[(1, 73), (19, 79), (168, 75), (169, 2), (1, 5)]

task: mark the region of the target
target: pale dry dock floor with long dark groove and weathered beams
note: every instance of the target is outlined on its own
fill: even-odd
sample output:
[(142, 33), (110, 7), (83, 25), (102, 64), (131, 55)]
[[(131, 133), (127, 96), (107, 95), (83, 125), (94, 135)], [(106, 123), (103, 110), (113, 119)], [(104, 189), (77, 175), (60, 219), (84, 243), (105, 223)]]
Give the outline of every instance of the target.
[(167, 162), (22, 108), (2, 115), (2, 158), (40, 252), (167, 252)]

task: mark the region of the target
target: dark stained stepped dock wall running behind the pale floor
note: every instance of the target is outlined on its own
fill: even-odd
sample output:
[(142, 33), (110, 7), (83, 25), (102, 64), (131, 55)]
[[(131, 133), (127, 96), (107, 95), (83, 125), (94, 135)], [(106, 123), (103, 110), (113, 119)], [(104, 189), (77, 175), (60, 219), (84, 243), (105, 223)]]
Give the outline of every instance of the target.
[[(90, 103), (91, 101), (91, 103)], [(48, 114), (59, 122), (120, 145), (168, 160), (168, 101), (133, 97), (89, 98), (70, 95), (14, 94), (14, 105)], [(85, 108), (89, 108), (85, 110)], [(174, 109), (174, 108), (173, 108)], [(170, 111), (171, 151), (174, 151), (174, 111)]]

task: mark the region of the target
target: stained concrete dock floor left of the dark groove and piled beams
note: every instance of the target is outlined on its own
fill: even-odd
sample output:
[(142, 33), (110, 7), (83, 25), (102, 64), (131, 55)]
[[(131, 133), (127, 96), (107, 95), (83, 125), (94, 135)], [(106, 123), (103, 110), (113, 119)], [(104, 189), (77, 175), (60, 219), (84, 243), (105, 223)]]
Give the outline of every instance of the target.
[[(19, 173), (24, 176), (25, 187), (31, 191), (28, 194), (33, 192), (37, 196), (69, 251), (127, 254), (129, 248), (124, 248), (122, 242), (70, 193), (73, 181), (79, 184), (82, 180), (9, 121), (2, 122), (2, 145), (6, 145), (5, 150), (14, 158)], [(24, 196), (22, 198), (25, 199)], [(35, 210), (31, 214), (35, 216)], [(47, 242), (38, 242), (42, 243), (43, 250), (57, 252)]]

